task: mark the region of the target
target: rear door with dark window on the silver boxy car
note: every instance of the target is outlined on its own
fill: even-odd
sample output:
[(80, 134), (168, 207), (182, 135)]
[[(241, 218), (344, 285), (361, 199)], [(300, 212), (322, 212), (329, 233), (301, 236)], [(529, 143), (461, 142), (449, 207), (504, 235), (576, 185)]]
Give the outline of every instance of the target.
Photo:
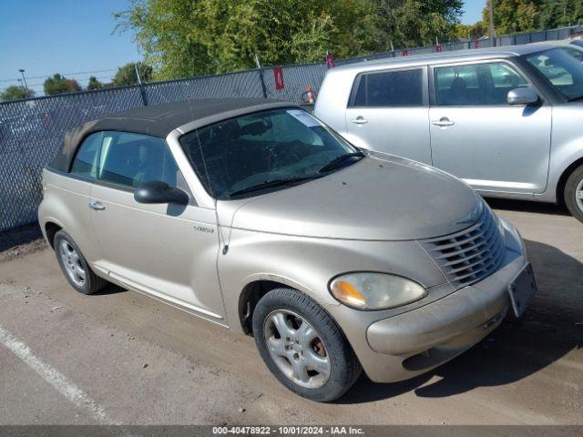
[(356, 146), (431, 164), (426, 67), (356, 76), (346, 130)]

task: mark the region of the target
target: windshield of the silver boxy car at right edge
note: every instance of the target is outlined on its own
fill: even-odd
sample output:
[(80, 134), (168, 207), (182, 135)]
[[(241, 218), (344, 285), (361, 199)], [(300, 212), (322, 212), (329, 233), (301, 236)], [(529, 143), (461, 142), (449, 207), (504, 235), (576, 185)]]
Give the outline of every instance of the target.
[(566, 50), (546, 50), (527, 56), (527, 61), (568, 100), (583, 99), (583, 64)]

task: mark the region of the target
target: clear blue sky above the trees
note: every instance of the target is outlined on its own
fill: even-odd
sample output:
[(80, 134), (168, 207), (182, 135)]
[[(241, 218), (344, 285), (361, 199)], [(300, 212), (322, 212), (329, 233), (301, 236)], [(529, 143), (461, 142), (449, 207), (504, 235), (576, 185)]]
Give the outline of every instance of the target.
[[(479, 21), (485, 3), (466, 0), (462, 22)], [(118, 66), (142, 58), (132, 34), (113, 34), (112, 13), (127, 7), (127, 0), (0, 0), (0, 90), (19, 85), (20, 68), (37, 96), (55, 73), (81, 86), (89, 76), (108, 82)]]

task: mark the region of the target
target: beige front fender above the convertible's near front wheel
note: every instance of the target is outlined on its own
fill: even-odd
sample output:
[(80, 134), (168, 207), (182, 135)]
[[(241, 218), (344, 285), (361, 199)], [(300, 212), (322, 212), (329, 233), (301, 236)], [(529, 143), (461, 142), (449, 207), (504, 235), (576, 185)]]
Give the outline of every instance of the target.
[[(383, 271), (405, 275), (431, 287), (445, 282), (415, 241), (324, 239), (231, 229), (229, 251), (220, 254), (220, 288), (230, 329), (239, 331), (240, 296), (251, 282), (269, 280), (300, 290), (322, 307), (332, 310), (339, 302), (328, 284), (348, 271)], [(411, 269), (415, 259), (415, 269)], [(421, 267), (420, 267), (421, 266)]]

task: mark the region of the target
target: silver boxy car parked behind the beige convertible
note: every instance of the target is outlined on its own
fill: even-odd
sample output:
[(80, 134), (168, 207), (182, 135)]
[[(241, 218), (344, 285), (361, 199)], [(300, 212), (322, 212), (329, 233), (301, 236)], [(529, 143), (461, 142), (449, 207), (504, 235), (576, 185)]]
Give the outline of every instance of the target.
[(583, 64), (544, 44), (332, 68), (314, 114), (354, 145), (485, 196), (564, 201), (583, 221)]

